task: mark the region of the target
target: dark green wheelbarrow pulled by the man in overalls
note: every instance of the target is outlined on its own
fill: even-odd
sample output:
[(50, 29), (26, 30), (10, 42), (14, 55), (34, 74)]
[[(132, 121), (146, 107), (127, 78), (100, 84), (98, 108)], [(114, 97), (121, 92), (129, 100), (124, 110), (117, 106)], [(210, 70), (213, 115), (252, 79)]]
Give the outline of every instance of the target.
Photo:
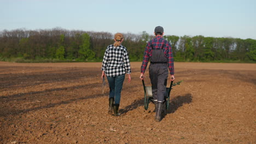
[[(164, 104), (165, 104), (165, 109), (168, 110), (169, 108), (169, 103), (170, 103), (170, 94), (173, 86), (179, 85), (182, 81), (173, 83), (171, 81), (170, 87), (166, 87), (166, 92), (165, 92), (165, 99), (164, 99)], [(153, 100), (153, 94), (152, 94), (152, 87), (151, 86), (145, 86), (144, 80), (142, 80), (143, 88), (144, 88), (144, 109), (148, 110), (148, 105), (150, 101), (154, 103)]]

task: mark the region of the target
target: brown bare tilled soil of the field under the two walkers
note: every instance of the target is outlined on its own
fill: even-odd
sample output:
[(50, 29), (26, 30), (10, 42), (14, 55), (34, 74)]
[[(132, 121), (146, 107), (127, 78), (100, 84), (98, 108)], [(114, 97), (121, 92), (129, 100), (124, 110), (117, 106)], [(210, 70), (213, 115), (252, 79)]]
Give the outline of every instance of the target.
[(0, 62), (0, 143), (256, 143), (256, 64), (176, 62), (161, 122), (131, 66), (114, 117), (101, 63)]

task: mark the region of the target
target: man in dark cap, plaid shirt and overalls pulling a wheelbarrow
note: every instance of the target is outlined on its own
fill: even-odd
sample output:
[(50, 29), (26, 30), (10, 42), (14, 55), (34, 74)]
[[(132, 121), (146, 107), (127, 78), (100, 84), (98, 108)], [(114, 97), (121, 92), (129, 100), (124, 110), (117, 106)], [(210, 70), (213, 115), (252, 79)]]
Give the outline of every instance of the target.
[(152, 94), (155, 104), (155, 121), (161, 121), (162, 105), (165, 100), (165, 91), (168, 77), (168, 69), (171, 74), (171, 81), (174, 81), (174, 67), (172, 49), (170, 43), (163, 39), (164, 28), (155, 27), (155, 38), (150, 40), (144, 51), (141, 65), (141, 80), (144, 79), (144, 72), (149, 65), (149, 77), (152, 84)]

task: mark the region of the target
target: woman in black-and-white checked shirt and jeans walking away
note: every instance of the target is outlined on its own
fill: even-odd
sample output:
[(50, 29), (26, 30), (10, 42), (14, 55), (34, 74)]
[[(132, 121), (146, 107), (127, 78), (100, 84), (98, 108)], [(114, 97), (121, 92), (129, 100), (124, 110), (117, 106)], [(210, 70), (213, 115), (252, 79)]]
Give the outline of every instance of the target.
[(104, 54), (102, 61), (102, 75), (101, 78), (107, 75), (109, 84), (109, 107), (108, 113), (112, 115), (114, 110), (114, 116), (119, 116), (118, 113), (121, 90), (125, 79), (125, 73), (128, 74), (128, 82), (131, 81), (131, 66), (126, 47), (121, 45), (124, 40), (124, 36), (121, 33), (114, 35), (115, 43), (109, 45)]

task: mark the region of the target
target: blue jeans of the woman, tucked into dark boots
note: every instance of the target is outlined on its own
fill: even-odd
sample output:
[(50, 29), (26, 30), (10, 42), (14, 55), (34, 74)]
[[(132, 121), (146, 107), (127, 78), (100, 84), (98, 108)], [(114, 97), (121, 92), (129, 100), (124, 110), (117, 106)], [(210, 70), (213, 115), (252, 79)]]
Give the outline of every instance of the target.
[(121, 98), (121, 91), (123, 88), (123, 83), (125, 79), (125, 74), (114, 76), (114, 77), (108, 77), (108, 84), (109, 84), (109, 98), (114, 98), (114, 104), (120, 103)]

